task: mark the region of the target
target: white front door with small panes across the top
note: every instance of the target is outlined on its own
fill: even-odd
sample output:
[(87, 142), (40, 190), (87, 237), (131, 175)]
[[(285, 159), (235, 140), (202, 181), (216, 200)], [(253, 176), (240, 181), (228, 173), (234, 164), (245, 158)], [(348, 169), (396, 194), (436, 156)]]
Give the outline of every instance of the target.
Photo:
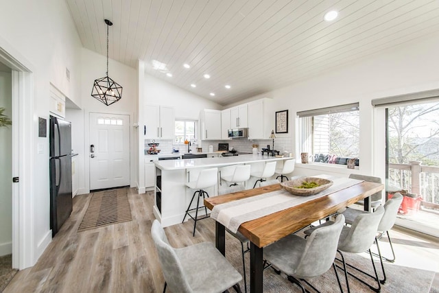
[(130, 117), (90, 113), (90, 189), (130, 185)]

